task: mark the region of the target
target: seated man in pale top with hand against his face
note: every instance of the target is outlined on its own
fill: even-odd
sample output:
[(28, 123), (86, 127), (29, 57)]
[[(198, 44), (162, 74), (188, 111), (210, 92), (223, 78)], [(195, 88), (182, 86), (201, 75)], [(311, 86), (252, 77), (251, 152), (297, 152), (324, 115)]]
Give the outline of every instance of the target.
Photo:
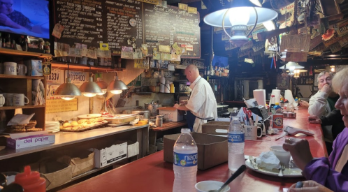
[[(325, 117), (332, 110), (335, 110), (335, 103), (338, 101), (338, 94), (333, 91), (332, 88), (333, 73), (323, 71), (319, 73), (318, 89), (317, 94), (314, 94), (310, 98), (310, 103), (308, 107), (308, 113), (311, 115), (310, 118)], [(335, 121), (332, 126), (321, 126), (324, 133), (324, 140), (326, 142), (326, 149), (328, 154), (331, 154), (333, 140), (337, 137), (343, 128), (345, 128), (343, 121)]]

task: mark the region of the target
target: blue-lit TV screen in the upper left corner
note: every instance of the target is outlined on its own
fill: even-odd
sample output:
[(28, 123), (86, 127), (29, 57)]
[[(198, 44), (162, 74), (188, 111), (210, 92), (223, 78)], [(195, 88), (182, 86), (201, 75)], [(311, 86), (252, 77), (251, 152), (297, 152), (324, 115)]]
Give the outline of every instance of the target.
[(0, 0), (0, 31), (50, 38), (47, 0)]

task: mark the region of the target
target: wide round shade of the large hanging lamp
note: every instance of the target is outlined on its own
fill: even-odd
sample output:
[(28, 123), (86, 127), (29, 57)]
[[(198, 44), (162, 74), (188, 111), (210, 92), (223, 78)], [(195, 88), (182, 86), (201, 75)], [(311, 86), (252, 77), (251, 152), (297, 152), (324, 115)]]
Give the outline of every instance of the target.
[(256, 6), (254, 3), (251, 3), (249, 0), (233, 0), (231, 1), (229, 6), (224, 6), (223, 9), (216, 10), (212, 13), (205, 15), (205, 17), (203, 18), (203, 21), (206, 24), (213, 27), (222, 27), (222, 19), (224, 18), (224, 14), (229, 8), (231, 8), (231, 10), (229, 10), (229, 13), (227, 13), (226, 17), (224, 18), (224, 27), (232, 27), (229, 17), (231, 13), (233, 13), (235, 10), (238, 10), (238, 8), (241, 8), (241, 7), (249, 9), (249, 22), (247, 22), (247, 25), (255, 24), (256, 13), (254, 8), (256, 9), (257, 16), (258, 16), (257, 24), (274, 20), (278, 16), (277, 11), (270, 8), (262, 8), (262, 7)]

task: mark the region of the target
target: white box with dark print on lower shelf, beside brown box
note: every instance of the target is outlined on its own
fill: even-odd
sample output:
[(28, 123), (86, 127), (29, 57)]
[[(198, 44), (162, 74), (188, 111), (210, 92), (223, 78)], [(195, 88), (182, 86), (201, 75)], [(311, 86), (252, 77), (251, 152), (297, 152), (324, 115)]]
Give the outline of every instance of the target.
[(110, 145), (110, 143), (100, 143), (99, 147), (93, 149), (96, 168), (103, 168), (106, 165), (115, 163), (127, 158), (127, 142)]

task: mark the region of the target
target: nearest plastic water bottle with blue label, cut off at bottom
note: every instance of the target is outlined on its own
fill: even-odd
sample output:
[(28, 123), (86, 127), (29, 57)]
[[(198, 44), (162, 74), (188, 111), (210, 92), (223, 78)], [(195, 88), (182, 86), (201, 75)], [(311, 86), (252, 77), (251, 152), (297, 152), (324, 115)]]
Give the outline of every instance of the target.
[(173, 192), (194, 192), (196, 189), (198, 148), (189, 128), (182, 128), (174, 145)]

